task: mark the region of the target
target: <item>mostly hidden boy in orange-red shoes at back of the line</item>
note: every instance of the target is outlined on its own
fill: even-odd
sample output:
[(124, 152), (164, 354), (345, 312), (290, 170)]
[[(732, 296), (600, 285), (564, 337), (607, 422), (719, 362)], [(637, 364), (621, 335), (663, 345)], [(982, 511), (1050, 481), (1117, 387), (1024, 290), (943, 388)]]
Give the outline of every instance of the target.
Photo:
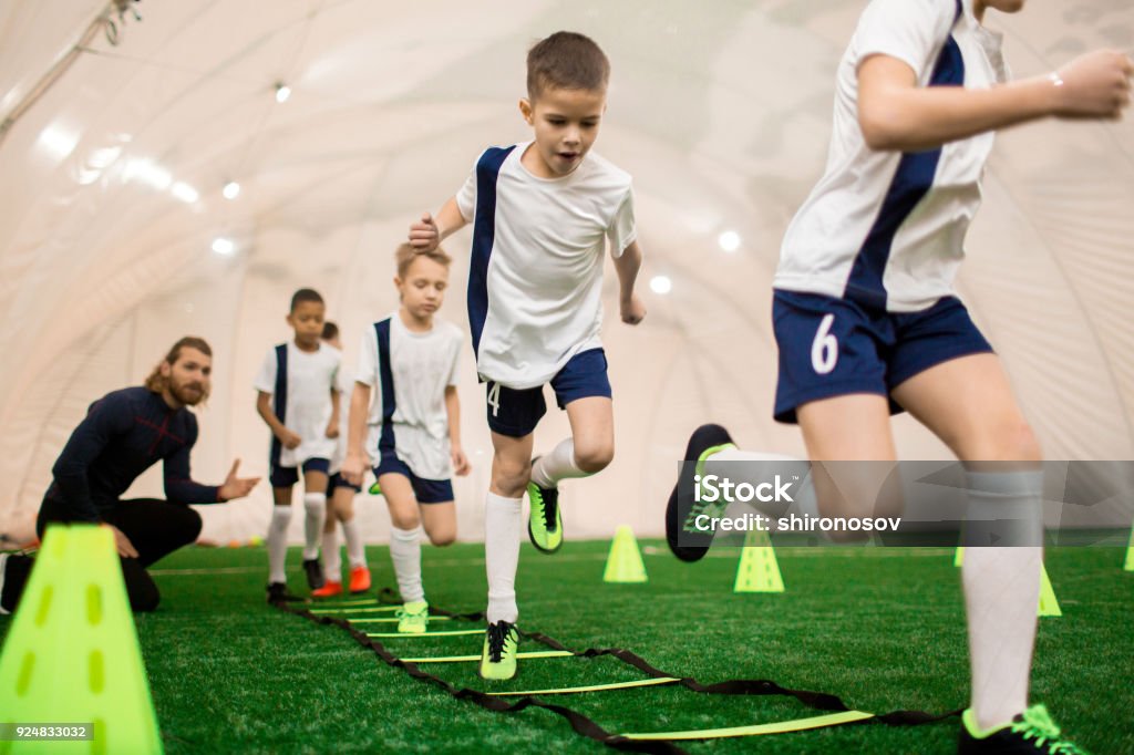
[[(323, 342), (338, 349), (339, 353), (342, 351), (339, 326), (330, 320), (323, 323)], [(337, 383), (340, 397), (350, 396), (354, 388), (345, 370), (339, 370)], [(340, 408), (338, 444), (335, 447), (335, 455), (331, 456), (331, 477), (327, 482), (327, 489), (331, 494), (330, 511), (327, 512), (327, 523), (323, 525), (323, 578), (327, 584), (312, 592), (312, 597), (333, 597), (342, 594), (342, 563), (339, 559), (339, 541), (335, 532), (336, 521), (342, 525), (342, 537), (347, 541), (347, 560), (350, 562), (350, 593), (357, 595), (370, 589), (366, 548), (362, 542), (362, 533), (358, 532), (358, 523), (354, 518), (354, 497), (362, 491), (362, 486), (347, 481), (341, 474), (342, 460), (347, 453), (349, 422), (349, 409)]]

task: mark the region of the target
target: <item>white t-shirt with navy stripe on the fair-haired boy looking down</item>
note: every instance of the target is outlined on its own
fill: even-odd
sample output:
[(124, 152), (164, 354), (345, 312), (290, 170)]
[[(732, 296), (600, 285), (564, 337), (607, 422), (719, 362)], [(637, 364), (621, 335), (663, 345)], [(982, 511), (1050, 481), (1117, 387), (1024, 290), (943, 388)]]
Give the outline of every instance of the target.
[(374, 464), (379, 461), (382, 417), (387, 408), (382, 390), (386, 357), (378, 341), (378, 325), (382, 323), (388, 323), (389, 328), (388, 366), (393, 382), (390, 430), (395, 452), (418, 477), (448, 480), (452, 476), (452, 460), (445, 389), (457, 384), (464, 336), (459, 328), (437, 317), (432, 330), (415, 333), (406, 328), (397, 312), (363, 333), (355, 380), (373, 388), (366, 421), (366, 453)]

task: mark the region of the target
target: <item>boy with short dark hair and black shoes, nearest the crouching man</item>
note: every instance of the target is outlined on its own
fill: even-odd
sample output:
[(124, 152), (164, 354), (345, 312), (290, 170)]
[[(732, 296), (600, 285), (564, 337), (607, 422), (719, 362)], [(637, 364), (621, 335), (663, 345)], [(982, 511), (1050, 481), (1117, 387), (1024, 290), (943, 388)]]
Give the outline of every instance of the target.
[(291, 297), (287, 322), (295, 338), (268, 350), (255, 388), (256, 412), (272, 431), (272, 520), (268, 528), (268, 602), (297, 600), (287, 592), (284, 563), (291, 521), (291, 487), (303, 469), (306, 511), (303, 568), (312, 589), (323, 586), (319, 536), (327, 514), (327, 480), (339, 434), (336, 379), (341, 354), (322, 343), (323, 297), (302, 288)]

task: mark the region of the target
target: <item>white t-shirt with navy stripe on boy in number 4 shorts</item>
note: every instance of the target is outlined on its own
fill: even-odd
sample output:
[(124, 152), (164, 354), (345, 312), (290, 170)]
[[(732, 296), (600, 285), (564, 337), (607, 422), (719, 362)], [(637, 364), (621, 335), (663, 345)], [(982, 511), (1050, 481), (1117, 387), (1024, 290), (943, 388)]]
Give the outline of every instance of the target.
[(620, 256), (636, 234), (627, 172), (590, 152), (568, 176), (538, 178), (521, 163), (530, 144), (485, 151), (477, 163), (499, 171), (482, 168), (479, 180), (474, 168), (457, 194), (474, 222), (476, 371), (514, 389), (542, 385), (579, 351), (602, 346), (602, 255), (609, 239)]

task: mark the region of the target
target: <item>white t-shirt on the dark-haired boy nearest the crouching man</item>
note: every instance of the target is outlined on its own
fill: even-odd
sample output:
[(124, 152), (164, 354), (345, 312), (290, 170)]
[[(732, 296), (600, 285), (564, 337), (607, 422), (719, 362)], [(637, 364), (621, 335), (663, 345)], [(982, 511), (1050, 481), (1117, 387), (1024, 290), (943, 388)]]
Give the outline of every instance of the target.
[[(337, 384), (341, 358), (342, 354), (327, 343), (320, 343), (316, 351), (303, 351), (295, 341), (288, 341), (284, 416), (279, 413), (277, 416), (285, 427), (299, 435), (302, 442), (294, 449), (280, 450), (281, 467), (298, 467), (307, 459), (330, 459), (333, 456), (338, 441), (327, 436), (327, 425), (331, 421), (331, 391)], [(264, 356), (255, 388), (270, 393), (273, 399), (278, 390), (276, 367), (276, 347), (272, 347)], [(341, 405), (339, 408), (341, 410)]]

